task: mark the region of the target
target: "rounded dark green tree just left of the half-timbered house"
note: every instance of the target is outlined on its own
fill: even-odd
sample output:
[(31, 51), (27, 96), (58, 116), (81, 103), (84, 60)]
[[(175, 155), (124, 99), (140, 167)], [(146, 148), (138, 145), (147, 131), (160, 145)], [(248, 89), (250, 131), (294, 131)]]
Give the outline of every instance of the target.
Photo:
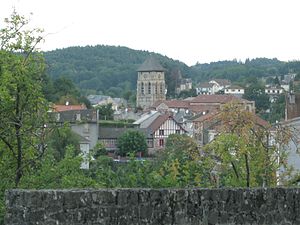
[(145, 135), (137, 130), (128, 130), (124, 132), (117, 140), (118, 153), (126, 156), (129, 153), (142, 152), (147, 150), (147, 141)]

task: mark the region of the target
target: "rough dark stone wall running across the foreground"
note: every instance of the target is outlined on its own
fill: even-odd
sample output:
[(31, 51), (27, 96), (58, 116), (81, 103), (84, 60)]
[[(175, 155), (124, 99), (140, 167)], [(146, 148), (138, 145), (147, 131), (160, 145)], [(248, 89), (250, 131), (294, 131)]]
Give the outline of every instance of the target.
[(10, 190), (6, 224), (300, 224), (300, 189)]

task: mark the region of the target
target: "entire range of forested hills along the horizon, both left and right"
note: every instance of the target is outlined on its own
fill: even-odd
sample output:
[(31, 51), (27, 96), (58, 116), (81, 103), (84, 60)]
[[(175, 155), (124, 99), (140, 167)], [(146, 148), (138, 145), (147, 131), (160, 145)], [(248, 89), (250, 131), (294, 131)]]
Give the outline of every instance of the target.
[(299, 61), (257, 58), (245, 62), (231, 60), (188, 67), (157, 53), (103, 45), (69, 47), (44, 53), (51, 78), (70, 78), (84, 95), (106, 94), (127, 99), (135, 96), (136, 70), (150, 54), (155, 55), (166, 69), (169, 96), (174, 95), (180, 73), (183, 78), (192, 78), (194, 82), (225, 78), (245, 84), (248, 78), (300, 72)]

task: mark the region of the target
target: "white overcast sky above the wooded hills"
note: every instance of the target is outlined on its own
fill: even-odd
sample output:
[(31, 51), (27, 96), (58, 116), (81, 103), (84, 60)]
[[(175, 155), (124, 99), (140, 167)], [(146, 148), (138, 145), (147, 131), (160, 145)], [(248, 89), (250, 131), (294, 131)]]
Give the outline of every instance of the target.
[(300, 59), (299, 0), (1, 0), (1, 22), (13, 7), (49, 34), (43, 50), (120, 45), (188, 65)]

